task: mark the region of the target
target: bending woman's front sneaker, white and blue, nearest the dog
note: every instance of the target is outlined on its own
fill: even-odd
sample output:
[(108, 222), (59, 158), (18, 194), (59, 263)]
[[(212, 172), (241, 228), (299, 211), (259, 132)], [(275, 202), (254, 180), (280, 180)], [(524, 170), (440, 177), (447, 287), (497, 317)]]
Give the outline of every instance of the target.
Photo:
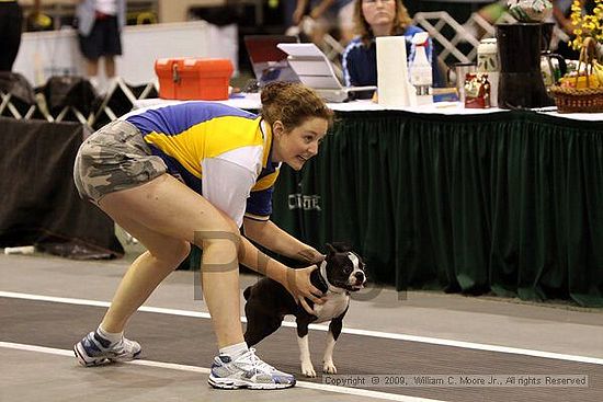
[(265, 364), (250, 348), (235, 360), (227, 355), (217, 356), (207, 382), (220, 389), (275, 390), (295, 386), (295, 377)]

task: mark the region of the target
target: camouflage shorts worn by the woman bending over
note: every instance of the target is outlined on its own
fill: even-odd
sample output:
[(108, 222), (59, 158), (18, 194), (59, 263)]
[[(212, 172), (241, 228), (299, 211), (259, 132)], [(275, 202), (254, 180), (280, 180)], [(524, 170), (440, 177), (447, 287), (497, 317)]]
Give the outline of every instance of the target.
[(98, 204), (105, 194), (136, 187), (167, 170), (161, 158), (151, 154), (138, 128), (115, 120), (80, 146), (73, 180), (80, 196)]

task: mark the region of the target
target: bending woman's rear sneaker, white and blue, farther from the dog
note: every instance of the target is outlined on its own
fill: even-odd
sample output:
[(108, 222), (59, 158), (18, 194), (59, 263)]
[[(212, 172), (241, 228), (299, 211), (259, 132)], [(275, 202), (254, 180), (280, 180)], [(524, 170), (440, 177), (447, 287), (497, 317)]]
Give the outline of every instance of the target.
[(140, 345), (125, 337), (111, 344), (96, 332), (91, 332), (73, 346), (73, 352), (80, 365), (90, 367), (135, 359), (140, 354)]

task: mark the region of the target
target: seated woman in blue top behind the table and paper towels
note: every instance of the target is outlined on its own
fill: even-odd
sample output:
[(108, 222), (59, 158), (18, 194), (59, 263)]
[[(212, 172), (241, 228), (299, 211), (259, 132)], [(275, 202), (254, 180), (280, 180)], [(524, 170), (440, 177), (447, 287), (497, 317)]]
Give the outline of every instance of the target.
[[(354, 9), (356, 36), (342, 56), (343, 77), (345, 85), (376, 85), (377, 84), (377, 45), (375, 37), (403, 35), (407, 37), (408, 60), (414, 56), (414, 45), (410, 38), (424, 32), (411, 24), (411, 19), (401, 0), (359, 0)], [(428, 46), (428, 58), (433, 68), (433, 85), (437, 87), (440, 74), (437, 57), (433, 54), (433, 46)], [(359, 97), (371, 97), (371, 92), (362, 92)]]

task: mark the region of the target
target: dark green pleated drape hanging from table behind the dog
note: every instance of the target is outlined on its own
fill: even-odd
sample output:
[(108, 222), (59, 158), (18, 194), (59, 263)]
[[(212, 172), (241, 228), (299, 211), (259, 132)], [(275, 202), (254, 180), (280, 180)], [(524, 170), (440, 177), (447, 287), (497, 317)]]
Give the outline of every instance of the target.
[(603, 124), (532, 112), (342, 113), (273, 220), (348, 241), (402, 290), (603, 306)]

